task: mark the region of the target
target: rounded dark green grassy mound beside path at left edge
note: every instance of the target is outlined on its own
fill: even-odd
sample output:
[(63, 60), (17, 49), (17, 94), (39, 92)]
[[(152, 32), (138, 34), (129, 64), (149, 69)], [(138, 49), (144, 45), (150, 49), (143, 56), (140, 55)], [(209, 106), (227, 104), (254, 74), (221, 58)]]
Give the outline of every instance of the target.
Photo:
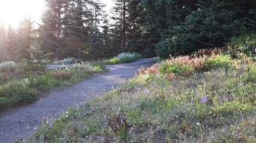
[(32, 102), (35, 90), (29, 88), (25, 81), (13, 81), (0, 86), (0, 110)]

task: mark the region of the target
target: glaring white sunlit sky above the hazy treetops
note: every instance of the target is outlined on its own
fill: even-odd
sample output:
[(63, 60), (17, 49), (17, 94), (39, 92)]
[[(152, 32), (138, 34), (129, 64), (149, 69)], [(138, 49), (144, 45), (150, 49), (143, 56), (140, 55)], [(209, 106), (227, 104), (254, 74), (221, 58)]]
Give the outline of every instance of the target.
[(0, 20), (5, 26), (18, 27), (25, 14), (37, 23), (43, 10), (44, 0), (0, 0)]

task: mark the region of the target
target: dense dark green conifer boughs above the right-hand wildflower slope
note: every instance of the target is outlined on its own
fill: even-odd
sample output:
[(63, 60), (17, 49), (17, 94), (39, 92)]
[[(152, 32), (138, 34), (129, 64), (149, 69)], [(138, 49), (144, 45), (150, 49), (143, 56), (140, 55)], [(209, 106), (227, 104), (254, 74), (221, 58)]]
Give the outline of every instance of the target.
[[(169, 2), (167, 2), (170, 4), (167, 10), (170, 19), (168, 28), (165, 28), (161, 41), (155, 45), (158, 56), (189, 55), (198, 49), (221, 48), (225, 43), (230, 42), (233, 36), (255, 32), (256, 17), (252, 16), (255, 10), (250, 6), (250, 4), (255, 5), (255, 2), (188, 1), (189, 5), (183, 1), (184, 4), (179, 1)], [(237, 39), (233, 39), (235, 40)], [(241, 40), (245, 41), (245, 39)], [(245, 46), (240, 49), (248, 54), (249, 52), (254, 54), (253, 46), (249, 42), (244, 45), (242, 41), (237, 41)]]

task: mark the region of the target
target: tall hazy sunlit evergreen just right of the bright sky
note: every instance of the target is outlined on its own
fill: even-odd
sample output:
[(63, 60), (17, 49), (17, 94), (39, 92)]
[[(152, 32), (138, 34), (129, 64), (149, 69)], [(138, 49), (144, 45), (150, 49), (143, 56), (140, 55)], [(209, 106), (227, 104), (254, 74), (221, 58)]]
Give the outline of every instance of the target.
[[(44, 48), (55, 52), (59, 58), (64, 52), (61, 48), (63, 28), (65, 27), (65, 13), (67, 13), (70, 0), (45, 0), (46, 11), (42, 16), (43, 25), (40, 29)], [(56, 49), (55, 49), (56, 48)]]

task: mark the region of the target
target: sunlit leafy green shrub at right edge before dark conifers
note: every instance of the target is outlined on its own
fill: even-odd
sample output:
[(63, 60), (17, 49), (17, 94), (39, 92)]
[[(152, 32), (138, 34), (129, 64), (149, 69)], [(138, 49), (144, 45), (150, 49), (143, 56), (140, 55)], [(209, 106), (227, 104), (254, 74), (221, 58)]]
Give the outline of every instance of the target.
[(233, 57), (255, 57), (256, 54), (256, 34), (236, 36), (228, 43), (229, 54)]

